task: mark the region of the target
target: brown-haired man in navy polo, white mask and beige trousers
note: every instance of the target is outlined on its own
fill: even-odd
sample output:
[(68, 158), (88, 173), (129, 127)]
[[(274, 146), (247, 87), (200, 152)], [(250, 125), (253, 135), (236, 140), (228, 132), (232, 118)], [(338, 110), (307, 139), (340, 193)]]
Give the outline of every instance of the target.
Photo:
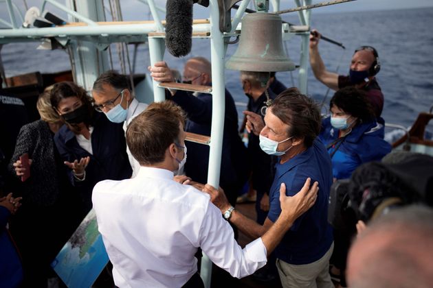
[[(306, 178), (319, 182), (320, 191), (314, 206), (293, 223), (276, 248), (283, 287), (333, 287), (329, 276), (333, 235), (327, 222), (332, 169), (329, 154), (317, 139), (319, 132), (320, 111), (307, 96), (287, 91), (267, 108), (260, 147), (279, 158), (269, 195), (269, 213), (263, 226), (233, 210), (222, 193), (208, 185), (205, 189), (226, 219), (245, 234), (258, 237), (274, 225), (281, 213), (280, 190), (294, 195)], [(226, 217), (227, 212), (231, 214), (229, 217)]]

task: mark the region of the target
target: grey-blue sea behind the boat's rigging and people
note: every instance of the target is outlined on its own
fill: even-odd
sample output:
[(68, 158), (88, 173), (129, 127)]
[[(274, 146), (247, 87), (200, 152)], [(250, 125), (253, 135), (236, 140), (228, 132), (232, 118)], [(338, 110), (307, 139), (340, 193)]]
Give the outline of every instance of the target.
[[(320, 9), (320, 8), (318, 8)], [(283, 20), (300, 25), (297, 14), (283, 14)], [(419, 112), (433, 106), (433, 8), (412, 10), (384, 10), (370, 12), (340, 12), (331, 14), (311, 13), (311, 27), (322, 35), (343, 43), (346, 49), (320, 42), (320, 53), (329, 71), (346, 75), (355, 49), (371, 45), (379, 53), (381, 71), (377, 80), (384, 93), (384, 117), (387, 123), (409, 127)], [(1, 57), (7, 76), (40, 71), (52, 73), (70, 69), (67, 53), (63, 50), (37, 50), (38, 43), (3, 45)], [(130, 45), (132, 46), (132, 45)], [(113, 51), (113, 69), (120, 70), (118, 53)], [(227, 59), (237, 45), (229, 45)], [(300, 61), (300, 36), (293, 36), (285, 43), (287, 54), (293, 62)], [(133, 47), (130, 47), (132, 59)], [(182, 71), (191, 56), (210, 58), (210, 41), (194, 39), (192, 51), (185, 58), (175, 58), (167, 51), (164, 60), (172, 68)], [(146, 45), (138, 48), (136, 73), (147, 73), (150, 63)], [(298, 86), (298, 72), (278, 72), (277, 78), (286, 86)], [(239, 72), (226, 70), (225, 85), (238, 104), (239, 119), (245, 109), (247, 97), (242, 91)], [(311, 69), (308, 74), (308, 92), (319, 103), (329, 105), (333, 91), (315, 80)], [(324, 98), (326, 97), (326, 98)], [(329, 108), (324, 106), (322, 112)], [(433, 128), (430, 124), (430, 132)]]

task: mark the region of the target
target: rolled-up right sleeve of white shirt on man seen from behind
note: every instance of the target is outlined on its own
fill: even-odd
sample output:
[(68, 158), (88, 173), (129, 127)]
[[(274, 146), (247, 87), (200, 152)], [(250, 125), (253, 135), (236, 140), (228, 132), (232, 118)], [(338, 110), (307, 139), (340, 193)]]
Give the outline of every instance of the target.
[(208, 206), (199, 233), (201, 249), (210, 260), (236, 278), (253, 274), (267, 262), (261, 238), (241, 248), (234, 239), (232, 227), (213, 204)]

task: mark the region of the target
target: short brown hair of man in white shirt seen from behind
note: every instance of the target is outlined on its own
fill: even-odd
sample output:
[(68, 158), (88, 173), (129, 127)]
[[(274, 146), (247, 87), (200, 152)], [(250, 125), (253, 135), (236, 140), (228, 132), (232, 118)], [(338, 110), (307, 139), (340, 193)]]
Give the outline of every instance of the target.
[(135, 117), (126, 130), (126, 143), (140, 165), (164, 161), (166, 149), (179, 143), (184, 111), (172, 101), (154, 102)]

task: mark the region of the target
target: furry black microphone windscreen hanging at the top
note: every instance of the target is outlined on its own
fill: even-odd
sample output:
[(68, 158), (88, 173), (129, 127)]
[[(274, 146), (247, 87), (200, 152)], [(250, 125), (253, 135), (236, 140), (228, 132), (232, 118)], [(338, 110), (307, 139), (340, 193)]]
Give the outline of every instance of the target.
[(166, 47), (175, 57), (186, 56), (192, 46), (192, 0), (166, 3)]

